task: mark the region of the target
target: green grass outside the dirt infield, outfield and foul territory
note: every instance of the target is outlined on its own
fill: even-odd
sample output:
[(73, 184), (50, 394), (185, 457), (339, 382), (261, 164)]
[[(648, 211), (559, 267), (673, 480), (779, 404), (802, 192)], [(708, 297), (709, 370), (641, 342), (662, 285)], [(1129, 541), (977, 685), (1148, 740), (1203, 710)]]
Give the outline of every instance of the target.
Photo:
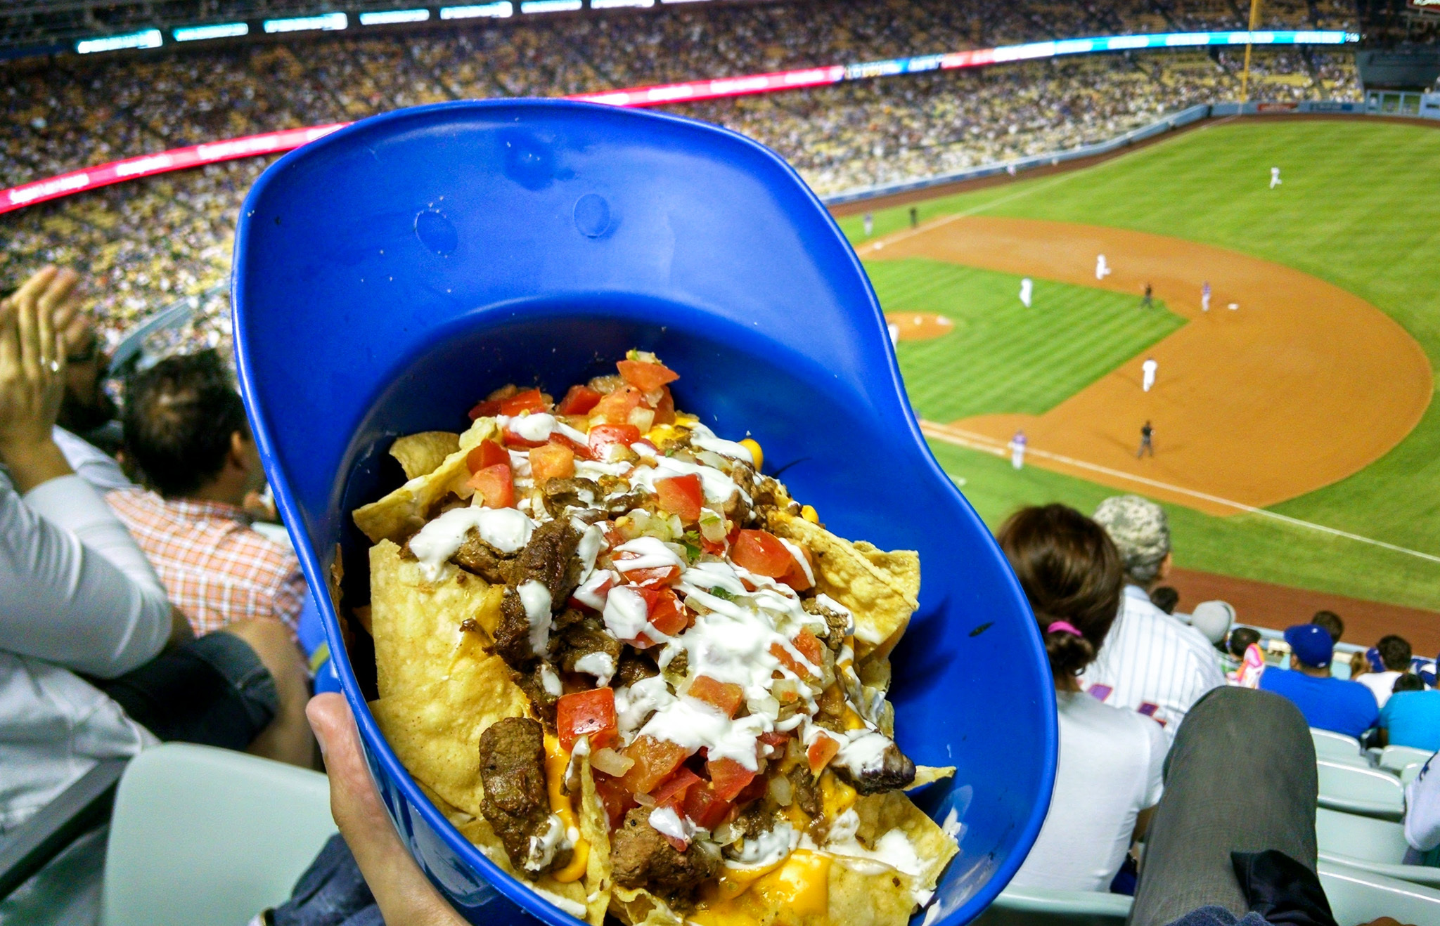
[[(1440, 364), (1440, 131), (1387, 122), (1211, 124), (1068, 174), (919, 204), (920, 219), (986, 213), (1171, 234), (1313, 273), (1380, 306)], [(1270, 167), (1284, 183), (1269, 190)], [(876, 213), (876, 233), (909, 224), (909, 207)], [(860, 216), (842, 223), (861, 239)], [(881, 263), (870, 265), (883, 273)], [(883, 293), (881, 293), (883, 295)], [(1377, 382), (1375, 388), (1384, 388)], [(1257, 449), (1257, 453), (1261, 450)], [(1107, 489), (984, 454), (937, 447), (986, 518)], [(973, 467), (973, 479), (965, 472)], [(1051, 493), (1050, 496), (1044, 493)], [(1096, 495), (1099, 493), (1099, 495)], [(1208, 518), (1172, 506), (1181, 565), (1440, 608), (1440, 565), (1256, 518)], [(1440, 555), (1440, 403), (1391, 453), (1274, 510)]]

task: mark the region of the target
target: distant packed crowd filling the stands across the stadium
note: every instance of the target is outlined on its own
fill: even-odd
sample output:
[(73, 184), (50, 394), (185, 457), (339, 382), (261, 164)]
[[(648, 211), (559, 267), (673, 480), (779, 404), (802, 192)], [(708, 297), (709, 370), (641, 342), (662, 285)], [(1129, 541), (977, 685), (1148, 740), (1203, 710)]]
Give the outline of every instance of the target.
[[(1345, 26), (1344, 4), (1267, 4), (1267, 26)], [(1233, 4), (914, 0), (662, 9), (384, 37), (0, 65), (0, 187), (219, 138), (425, 102), (554, 96), (1079, 35), (1241, 27)], [(1104, 139), (1238, 93), (1234, 52), (1116, 55), (932, 72), (670, 111), (749, 134), (821, 194)], [(1348, 56), (1259, 52), (1256, 95), (1356, 98)], [(130, 181), (7, 216), (0, 280), (85, 266), (104, 338), (183, 296), (215, 311), (170, 341), (228, 349), (239, 203), (271, 158)]]

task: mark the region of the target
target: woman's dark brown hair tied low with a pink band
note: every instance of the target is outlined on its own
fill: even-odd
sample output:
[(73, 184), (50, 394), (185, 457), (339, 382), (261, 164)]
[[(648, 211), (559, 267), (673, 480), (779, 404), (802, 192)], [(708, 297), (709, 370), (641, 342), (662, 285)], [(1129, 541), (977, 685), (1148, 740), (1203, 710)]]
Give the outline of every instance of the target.
[[(1051, 673), (1079, 674), (1100, 651), (1120, 608), (1125, 568), (1115, 542), (1064, 505), (1020, 509), (1001, 525), (998, 539), (1035, 611)], [(1047, 633), (1056, 621), (1080, 636)]]

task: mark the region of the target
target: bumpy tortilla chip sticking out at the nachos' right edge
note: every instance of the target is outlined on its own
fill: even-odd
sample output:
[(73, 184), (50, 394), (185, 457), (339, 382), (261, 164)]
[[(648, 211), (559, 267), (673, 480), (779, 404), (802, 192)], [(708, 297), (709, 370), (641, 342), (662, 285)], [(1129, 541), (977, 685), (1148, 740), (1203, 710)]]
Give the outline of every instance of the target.
[[(783, 512), (772, 513), (776, 535), (804, 544), (815, 556), (815, 585), (855, 615), (855, 659), (883, 660), (920, 604), (920, 556), (851, 544), (825, 528)], [(858, 670), (858, 666), (857, 666)], [(888, 674), (888, 673), (887, 673)]]

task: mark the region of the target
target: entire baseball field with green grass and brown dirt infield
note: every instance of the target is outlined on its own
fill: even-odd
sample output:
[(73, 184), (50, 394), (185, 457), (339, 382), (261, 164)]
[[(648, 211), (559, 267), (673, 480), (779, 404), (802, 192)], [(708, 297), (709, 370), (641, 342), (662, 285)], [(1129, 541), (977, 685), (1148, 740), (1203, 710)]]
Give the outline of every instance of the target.
[(1166, 505), (1184, 569), (1436, 611), (1437, 161), (1418, 125), (1217, 121), (917, 203), (914, 229), (910, 206), (841, 227), (936, 457), (991, 525), (1136, 492)]

